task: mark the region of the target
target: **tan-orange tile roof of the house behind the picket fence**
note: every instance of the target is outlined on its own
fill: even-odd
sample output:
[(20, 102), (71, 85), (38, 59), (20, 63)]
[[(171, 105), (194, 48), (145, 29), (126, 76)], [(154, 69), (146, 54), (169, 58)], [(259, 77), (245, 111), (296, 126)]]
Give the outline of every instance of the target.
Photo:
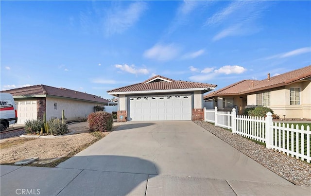
[(242, 80), (225, 88), (208, 93), (204, 96), (204, 99), (211, 98), (213, 96), (246, 94), (259, 90), (272, 89), (285, 86), (308, 77), (311, 77), (311, 65), (270, 77), (270, 80), (268, 80), (268, 78), (264, 80)]

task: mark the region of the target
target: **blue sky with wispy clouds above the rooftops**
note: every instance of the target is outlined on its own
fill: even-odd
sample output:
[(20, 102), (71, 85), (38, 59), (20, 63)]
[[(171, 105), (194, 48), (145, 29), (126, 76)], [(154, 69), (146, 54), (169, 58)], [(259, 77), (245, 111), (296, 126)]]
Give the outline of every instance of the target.
[(1, 90), (155, 74), (223, 88), (311, 65), (311, 1), (1, 1)]

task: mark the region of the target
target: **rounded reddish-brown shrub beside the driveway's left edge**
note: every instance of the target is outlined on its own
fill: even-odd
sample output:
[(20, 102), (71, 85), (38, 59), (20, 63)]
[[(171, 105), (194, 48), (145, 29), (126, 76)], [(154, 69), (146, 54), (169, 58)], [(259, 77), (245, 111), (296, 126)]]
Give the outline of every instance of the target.
[(112, 115), (105, 111), (93, 112), (87, 118), (90, 131), (110, 131), (112, 129)]

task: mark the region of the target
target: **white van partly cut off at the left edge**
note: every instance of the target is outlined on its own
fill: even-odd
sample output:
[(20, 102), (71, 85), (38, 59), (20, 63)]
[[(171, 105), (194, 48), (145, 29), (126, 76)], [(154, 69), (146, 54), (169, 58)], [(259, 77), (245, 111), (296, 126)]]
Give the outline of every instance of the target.
[(17, 109), (13, 96), (9, 93), (0, 93), (1, 131), (11, 124), (17, 123)]

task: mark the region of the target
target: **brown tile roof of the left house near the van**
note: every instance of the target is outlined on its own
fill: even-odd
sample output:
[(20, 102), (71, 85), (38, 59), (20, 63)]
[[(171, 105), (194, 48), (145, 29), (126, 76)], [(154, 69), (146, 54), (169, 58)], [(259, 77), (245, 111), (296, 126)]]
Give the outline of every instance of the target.
[(31, 95), (51, 95), (57, 97), (66, 97), (73, 99), (86, 100), (91, 102), (108, 103), (109, 101), (96, 95), (87, 94), (65, 88), (55, 88), (46, 85), (35, 85), (18, 89), (2, 90), (1, 92), (10, 93), (13, 96), (31, 96)]

